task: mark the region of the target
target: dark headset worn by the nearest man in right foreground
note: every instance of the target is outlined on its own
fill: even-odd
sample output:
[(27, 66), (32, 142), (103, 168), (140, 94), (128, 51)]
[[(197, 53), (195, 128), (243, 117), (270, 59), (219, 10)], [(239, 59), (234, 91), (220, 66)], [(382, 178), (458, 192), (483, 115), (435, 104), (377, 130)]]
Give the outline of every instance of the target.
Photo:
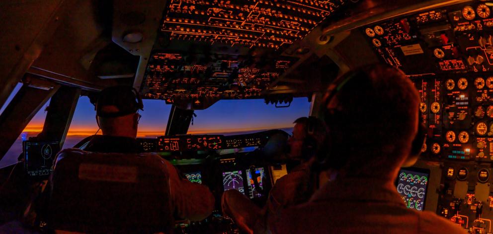
[[(386, 64), (386, 65), (392, 69), (397, 69), (397, 68), (390, 66), (388, 64)], [(335, 97), (335, 95), (337, 95), (337, 93), (340, 92), (340, 90), (344, 87), (345, 84), (347, 84), (347, 82), (349, 82), (354, 77), (356, 77), (358, 75), (363, 75), (363, 74), (364, 74), (364, 71), (359, 71), (359, 72), (351, 73), (350, 75), (343, 75), (343, 76), (335, 79), (329, 85), (329, 88), (327, 89), (327, 94), (326, 94), (327, 98), (324, 102), (323, 107), (325, 108), (329, 105), (330, 101), (332, 101), (332, 99)], [(366, 74), (364, 74), (364, 75), (366, 75)], [(326, 124), (328, 124), (328, 125), (332, 122), (331, 120), (337, 120), (336, 116), (341, 114), (341, 113), (338, 113), (337, 110), (331, 110), (331, 111), (332, 112), (326, 112), (324, 114), (324, 120), (325, 120)], [(418, 157), (419, 154), (421, 154), (423, 145), (426, 142), (426, 136), (427, 136), (426, 126), (424, 125), (424, 123), (422, 123), (422, 121), (418, 121), (417, 133), (414, 136), (414, 139), (412, 140), (412, 143), (411, 143), (411, 151), (410, 151), (411, 157)], [(328, 147), (324, 147), (324, 149), (319, 150), (319, 152), (316, 154), (316, 156), (317, 156), (316, 159), (317, 159), (317, 163), (318, 163), (317, 168), (319, 168), (321, 170), (322, 169), (328, 169), (331, 166), (328, 163), (329, 152), (327, 151), (327, 149), (330, 149), (332, 147), (331, 137), (330, 137), (330, 129), (327, 132), (327, 138), (328, 139), (326, 140), (326, 143), (329, 144)]]

